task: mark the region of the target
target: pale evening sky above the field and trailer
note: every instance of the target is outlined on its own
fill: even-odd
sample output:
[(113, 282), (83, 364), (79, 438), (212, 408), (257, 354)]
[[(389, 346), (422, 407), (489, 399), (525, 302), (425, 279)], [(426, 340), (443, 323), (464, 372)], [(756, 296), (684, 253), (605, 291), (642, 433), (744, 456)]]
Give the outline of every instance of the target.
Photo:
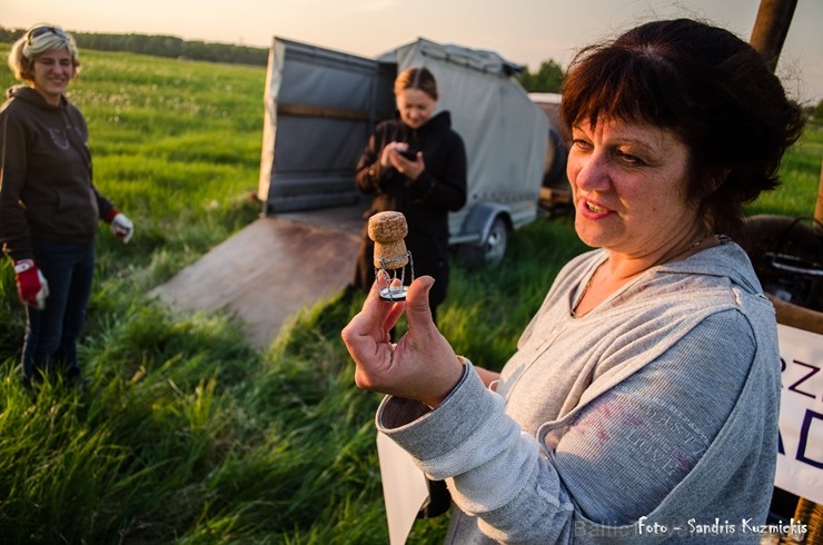
[[(536, 71), (656, 18), (692, 17), (748, 40), (760, 0), (0, 0), (0, 26), (176, 36), (268, 47), (275, 36), (374, 58), (427, 38), (496, 51)], [(82, 54), (82, 51), (81, 51)], [(823, 0), (797, 0), (777, 75), (804, 103), (823, 100)]]

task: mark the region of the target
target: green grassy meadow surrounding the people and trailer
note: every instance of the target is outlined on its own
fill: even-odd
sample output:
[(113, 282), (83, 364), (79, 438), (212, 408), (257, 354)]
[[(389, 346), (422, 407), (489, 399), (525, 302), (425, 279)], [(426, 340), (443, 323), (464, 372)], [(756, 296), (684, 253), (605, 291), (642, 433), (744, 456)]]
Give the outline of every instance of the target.
[[(81, 60), (69, 95), (89, 122), (95, 181), (137, 230), (129, 245), (100, 231), (85, 392), (20, 386), (24, 314), (0, 265), (0, 543), (388, 543), (380, 396), (355, 387), (339, 337), (361, 300), (306, 308), (256, 350), (230, 317), (180, 315), (147, 296), (259, 217), (249, 196), (265, 70)], [(12, 83), (4, 70), (0, 85)], [(810, 128), (785, 159), (785, 184), (750, 212), (813, 214), (822, 157), (823, 131)], [(455, 262), (444, 335), (499, 369), (554, 276), (585, 249), (559, 216), (519, 230), (498, 266)], [(440, 543), (447, 524), (417, 521), (408, 543)]]

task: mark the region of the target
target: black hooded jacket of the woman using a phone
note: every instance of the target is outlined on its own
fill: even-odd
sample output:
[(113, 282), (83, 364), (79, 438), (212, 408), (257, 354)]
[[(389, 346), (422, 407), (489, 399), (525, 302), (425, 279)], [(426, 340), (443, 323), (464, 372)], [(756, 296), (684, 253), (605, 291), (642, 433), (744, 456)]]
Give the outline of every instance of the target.
[[(383, 148), (393, 141), (407, 142), (410, 149), (423, 151), (426, 168), (417, 179), (401, 175), (394, 167), (380, 166)], [(406, 216), (406, 247), (412, 252), (414, 274), (429, 275), (436, 280), (429, 294), (433, 306), (446, 298), (448, 212), (466, 204), (466, 148), (463, 138), (452, 129), (448, 111), (437, 113), (418, 129), (397, 118), (379, 123), (357, 165), (358, 190), (374, 195), (368, 216), (381, 211)], [(374, 245), (364, 228), (355, 286), (371, 287), (373, 255)]]

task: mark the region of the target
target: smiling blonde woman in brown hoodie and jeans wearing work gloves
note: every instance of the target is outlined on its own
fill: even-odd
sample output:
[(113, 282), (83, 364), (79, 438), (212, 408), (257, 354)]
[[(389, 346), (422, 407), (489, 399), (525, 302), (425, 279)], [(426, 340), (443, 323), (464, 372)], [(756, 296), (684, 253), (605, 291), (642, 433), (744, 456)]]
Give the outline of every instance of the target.
[(11, 47), (9, 67), (26, 85), (0, 107), (0, 244), (28, 313), (23, 384), (47, 375), (81, 385), (77, 339), (98, 222), (123, 242), (135, 227), (91, 181), (86, 119), (63, 96), (80, 68), (71, 36), (37, 24)]

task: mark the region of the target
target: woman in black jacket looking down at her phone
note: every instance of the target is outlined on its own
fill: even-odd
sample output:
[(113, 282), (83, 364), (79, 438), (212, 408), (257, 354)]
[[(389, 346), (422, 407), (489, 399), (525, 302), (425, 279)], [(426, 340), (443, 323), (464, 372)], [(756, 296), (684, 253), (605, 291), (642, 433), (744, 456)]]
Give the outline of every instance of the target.
[[(448, 288), (448, 212), (466, 204), (466, 148), (452, 129), (448, 111), (435, 113), (437, 82), (425, 67), (408, 68), (395, 80), (397, 116), (383, 121), (357, 165), (360, 192), (374, 195), (367, 216), (399, 211), (406, 216), (406, 247), (414, 275), (435, 278), (429, 293), (432, 316)], [(374, 242), (367, 227), (357, 257), (354, 286), (375, 281)], [(409, 266), (407, 266), (409, 267)], [(408, 284), (410, 270), (405, 278)]]

